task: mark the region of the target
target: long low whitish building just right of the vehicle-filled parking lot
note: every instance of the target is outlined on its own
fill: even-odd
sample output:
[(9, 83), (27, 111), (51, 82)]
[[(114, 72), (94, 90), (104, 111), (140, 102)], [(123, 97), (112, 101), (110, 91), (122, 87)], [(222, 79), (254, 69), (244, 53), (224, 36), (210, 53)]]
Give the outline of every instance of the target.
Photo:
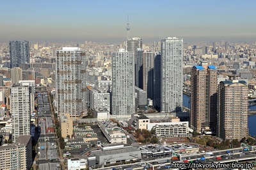
[(125, 133), (111, 120), (98, 121), (97, 125), (100, 127), (100, 130), (106, 136), (109, 143), (127, 143)]

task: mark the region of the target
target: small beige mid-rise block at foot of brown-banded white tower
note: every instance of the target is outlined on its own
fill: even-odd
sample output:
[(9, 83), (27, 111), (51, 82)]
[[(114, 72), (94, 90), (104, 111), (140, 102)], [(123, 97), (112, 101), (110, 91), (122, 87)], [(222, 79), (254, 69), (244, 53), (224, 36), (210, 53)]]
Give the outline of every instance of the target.
[(60, 115), (60, 127), (62, 138), (67, 138), (67, 136), (72, 136), (73, 134), (73, 120), (70, 118), (70, 114)]

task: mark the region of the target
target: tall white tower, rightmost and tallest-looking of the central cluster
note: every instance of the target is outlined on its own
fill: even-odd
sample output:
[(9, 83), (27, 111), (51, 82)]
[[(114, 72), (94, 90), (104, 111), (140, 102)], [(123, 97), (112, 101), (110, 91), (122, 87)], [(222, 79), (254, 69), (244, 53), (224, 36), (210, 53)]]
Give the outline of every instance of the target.
[(182, 110), (183, 39), (161, 40), (161, 111)]

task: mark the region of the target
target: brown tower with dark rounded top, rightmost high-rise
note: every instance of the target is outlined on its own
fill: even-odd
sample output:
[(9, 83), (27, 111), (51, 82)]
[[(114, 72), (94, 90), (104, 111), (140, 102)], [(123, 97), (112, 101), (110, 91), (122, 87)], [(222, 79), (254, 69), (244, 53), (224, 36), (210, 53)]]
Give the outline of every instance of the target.
[(248, 135), (248, 86), (243, 80), (221, 81), (218, 89), (217, 136), (238, 139)]

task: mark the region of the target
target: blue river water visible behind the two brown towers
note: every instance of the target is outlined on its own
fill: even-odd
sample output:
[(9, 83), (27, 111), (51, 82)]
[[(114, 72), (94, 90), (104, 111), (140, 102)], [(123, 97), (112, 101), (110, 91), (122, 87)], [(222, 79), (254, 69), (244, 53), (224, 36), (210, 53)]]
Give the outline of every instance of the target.
[[(183, 94), (183, 106), (190, 108), (190, 97)], [(251, 110), (256, 110), (256, 105), (250, 107)], [(256, 136), (256, 115), (250, 115), (248, 117), (248, 128), (251, 136)]]

